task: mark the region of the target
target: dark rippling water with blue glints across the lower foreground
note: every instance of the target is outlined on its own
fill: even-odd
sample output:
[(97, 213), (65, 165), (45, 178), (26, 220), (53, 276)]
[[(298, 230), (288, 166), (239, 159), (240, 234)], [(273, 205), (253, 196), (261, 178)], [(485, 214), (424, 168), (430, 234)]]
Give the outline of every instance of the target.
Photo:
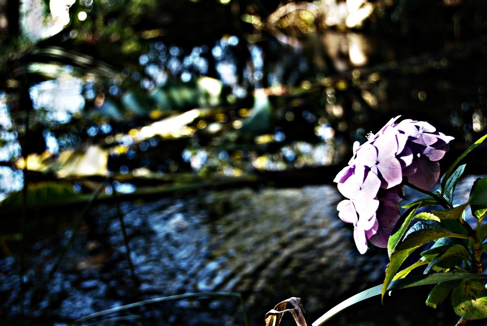
[[(467, 179), (460, 192), (468, 193), (472, 181)], [(85, 217), (32, 325), (66, 325), (139, 300), (204, 291), (240, 292), (250, 325), (263, 325), (264, 314), (274, 305), (298, 296), (311, 324), (347, 297), (380, 284), (387, 264), (384, 250), (358, 253), (352, 230), (337, 217), (339, 200), (335, 186), (325, 185), (122, 202), (138, 300), (116, 209), (99, 204)], [(72, 213), (56, 215), (61, 220)], [(69, 233), (65, 230), (28, 249), (25, 311)], [(20, 325), (18, 264), (16, 255), (1, 258), (3, 325)], [(424, 305), (429, 289), (396, 291), (383, 306), (379, 297), (371, 298), (336, 316), (330, 325), (454, 325), (457, 317), (448, 304), (438, 310)], [(243, 325), (239, 301), (232, 297), (174, 300), (141, 311), (146, 325)], [(138, 314), (131, 309), (101, 318)], [(115, 325), (139, 323), (131, 319)]]

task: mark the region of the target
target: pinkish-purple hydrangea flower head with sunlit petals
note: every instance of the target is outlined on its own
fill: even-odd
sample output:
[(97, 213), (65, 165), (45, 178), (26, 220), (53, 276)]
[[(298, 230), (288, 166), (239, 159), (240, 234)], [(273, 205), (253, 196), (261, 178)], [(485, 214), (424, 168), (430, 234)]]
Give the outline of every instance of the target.
[(370, 241), (386, 248), (399, 219), (403, 179), (430, 190), (440, 176), (438, 161), (448, 151), (451, 136), (439, 133), (424, 121), (391, 119), (377, 134), (369, 134), (360, 145), (354, 143), (349, 165), (334, 181), (348, 199), (338, 203), (338, 216), (354, 225), (354, 239), (360, 253)]

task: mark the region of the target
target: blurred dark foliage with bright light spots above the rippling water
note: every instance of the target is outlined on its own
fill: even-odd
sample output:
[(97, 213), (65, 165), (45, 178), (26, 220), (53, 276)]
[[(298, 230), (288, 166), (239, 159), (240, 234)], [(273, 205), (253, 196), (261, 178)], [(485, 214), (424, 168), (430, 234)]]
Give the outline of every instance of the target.
[(398, 114), (462, 148), (486, 129), (484, 1), (30, 3), (0, 4), (0, 159), (34, 181), (90, 148), (106, 174), (241, 176), (334, 165)]

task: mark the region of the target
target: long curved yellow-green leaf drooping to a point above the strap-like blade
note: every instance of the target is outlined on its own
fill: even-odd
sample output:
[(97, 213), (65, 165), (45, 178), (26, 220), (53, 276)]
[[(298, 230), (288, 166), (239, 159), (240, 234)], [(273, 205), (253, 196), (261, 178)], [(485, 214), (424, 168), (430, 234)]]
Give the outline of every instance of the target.
[(410, 233), (407, 239), (399, 244), (391, 254), (390, 262), (386, 268), (386, 277), (384, 279), (384, 283), (382, 284), (382, 297), (384, 297), (384, 294), (386, 293), (389, 284), (392, 282), (397, 269), (399, 269), (412, 251), (430, 241), (445, 237), (468, 238), (468, 235), (453, 233), (442, 228), (422, 229)]

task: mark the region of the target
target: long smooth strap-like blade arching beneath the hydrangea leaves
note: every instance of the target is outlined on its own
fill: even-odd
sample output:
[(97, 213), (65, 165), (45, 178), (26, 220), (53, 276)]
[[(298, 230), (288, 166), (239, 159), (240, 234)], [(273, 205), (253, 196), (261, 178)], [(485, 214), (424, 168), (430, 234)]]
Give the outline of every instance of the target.
[[(387, 290), (392, 291), (401, 288), (411, 288), (411, 287), (417, 287), (421, 285), (437, 284), (441, 282), (461, 280), (461, 279), (484, 279), (484, 278), (487, 278), (487, 275), (475, 274), (475, 273), (461, 273), (461, 272), (435, 273), (432, 275), (418, 275), (418, 276), (402, 278), (400, 280), (394, 280), (393, 282), (391, 282)], [(366, 289), (365, 291), (362, 291), (348, 298), (347, 300), (341, 302), (337, 306), (328, 310), (325, 314), (323, 314), (315, 322), (313, 322), (312, 326), (321, 326), (326, 321), (330, 320), (333, 316), (335, 316), (337, 313), (342, 311), (343, 309), (350, 307), (365, 299), (381, 294), (381, 288), (382, 286), (378, 285), (375, 286), (374, 288)]]

